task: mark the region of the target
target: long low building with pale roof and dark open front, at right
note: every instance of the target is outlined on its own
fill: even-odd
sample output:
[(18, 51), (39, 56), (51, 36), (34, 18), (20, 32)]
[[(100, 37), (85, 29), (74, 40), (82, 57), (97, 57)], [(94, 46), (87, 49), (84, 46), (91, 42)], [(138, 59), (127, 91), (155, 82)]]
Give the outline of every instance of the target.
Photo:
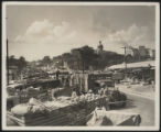
[(154, 61), (130, 63), (127, 64), (127, 68), (125, 68), (124, 64), (119, 64), (108, 67), (107, 69), (126, 74), (126, 77), (132, 80), (147, 82), (154, 81)]

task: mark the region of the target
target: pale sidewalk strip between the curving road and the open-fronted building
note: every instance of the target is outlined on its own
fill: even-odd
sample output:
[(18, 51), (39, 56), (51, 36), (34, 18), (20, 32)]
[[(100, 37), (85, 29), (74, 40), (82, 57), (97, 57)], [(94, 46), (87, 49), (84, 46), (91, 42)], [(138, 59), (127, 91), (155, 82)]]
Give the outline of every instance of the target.
[(116, 85), (116, 87), (118, 87), (119, 90), (125, 92), (125, 94), (139, 96), (142, 98), (154, 100), (154, 90), (152, 89), (151, 85), (141, 86), (141, 85), (119, 84), (119, 85)]

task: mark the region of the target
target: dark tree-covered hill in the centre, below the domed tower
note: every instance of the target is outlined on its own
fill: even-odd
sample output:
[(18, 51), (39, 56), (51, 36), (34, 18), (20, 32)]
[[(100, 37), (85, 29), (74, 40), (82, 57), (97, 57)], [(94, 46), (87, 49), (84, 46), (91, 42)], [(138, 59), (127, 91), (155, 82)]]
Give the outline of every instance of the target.
[(71, 50), (71, 53), (64, 53), (53, 57), (53, 63), (57, 66), (66, 62), (72, 69), (104, 69), (106, 66), (120, 64), (124, 62), (124, 55), (115, 52), (104, 51), (101, 54), (96, 54), (95, 50), (89, 46)]

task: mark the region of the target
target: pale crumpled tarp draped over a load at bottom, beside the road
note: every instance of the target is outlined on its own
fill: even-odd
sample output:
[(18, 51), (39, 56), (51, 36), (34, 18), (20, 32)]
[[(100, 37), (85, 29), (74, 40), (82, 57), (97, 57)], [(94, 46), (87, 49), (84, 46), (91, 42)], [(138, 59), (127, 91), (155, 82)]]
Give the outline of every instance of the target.
[(100, 125), (140, 125), (141, 117), (138, 113), (120, 111), (95, 110), (87, 119), (88, 127)]

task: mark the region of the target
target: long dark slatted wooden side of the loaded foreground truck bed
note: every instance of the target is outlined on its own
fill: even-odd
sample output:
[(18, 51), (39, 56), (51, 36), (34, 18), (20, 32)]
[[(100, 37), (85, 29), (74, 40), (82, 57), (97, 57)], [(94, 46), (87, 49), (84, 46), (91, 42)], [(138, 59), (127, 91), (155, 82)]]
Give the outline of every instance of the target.
[(57, 106), (44, 109), (41, 112), (26, 112), (17, 116), (9, 112), (8, 117), (19, 125), (84, 125), (86, 117), (98, 107), (98, 103), (107, 105), (106, 97), (90, 101), (67, 103), (64, 107)]

